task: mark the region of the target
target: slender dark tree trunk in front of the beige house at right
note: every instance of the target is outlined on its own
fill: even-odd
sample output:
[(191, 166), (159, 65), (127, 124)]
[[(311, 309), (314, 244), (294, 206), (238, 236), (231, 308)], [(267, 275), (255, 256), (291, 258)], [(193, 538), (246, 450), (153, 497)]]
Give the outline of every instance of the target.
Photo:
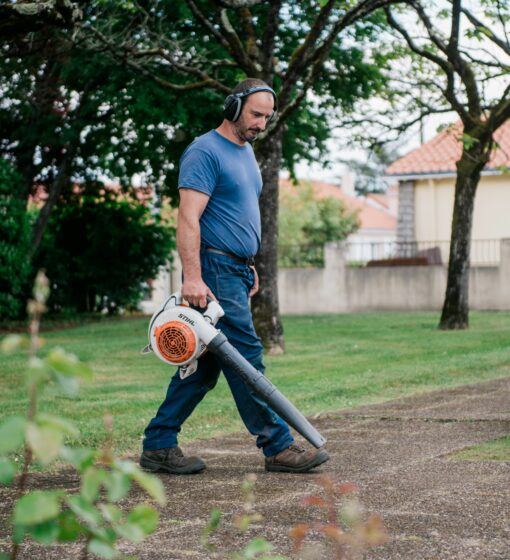
[(473, 210), (476, 188), (489, 153), (487, 144), (479, 145), (476, 150), (464, 149), (457, 162), (450, 260), (440, 329), (466, 329), (469, 326), (469, 253)]

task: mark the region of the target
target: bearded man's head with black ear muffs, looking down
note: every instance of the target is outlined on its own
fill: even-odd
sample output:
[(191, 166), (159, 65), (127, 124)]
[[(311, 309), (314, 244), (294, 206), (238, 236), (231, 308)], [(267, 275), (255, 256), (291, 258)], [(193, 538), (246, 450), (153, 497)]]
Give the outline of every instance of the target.
[(253, 142), (276, 110), (276, 94), (262, 80), (249, 78), (225, 100), (223, 113), (241, 142)]

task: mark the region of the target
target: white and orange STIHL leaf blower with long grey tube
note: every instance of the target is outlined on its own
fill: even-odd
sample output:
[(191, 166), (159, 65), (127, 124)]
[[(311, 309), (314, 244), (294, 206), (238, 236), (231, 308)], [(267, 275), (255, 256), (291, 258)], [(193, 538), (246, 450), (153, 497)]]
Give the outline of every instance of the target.
[(215, 327), (224, 314), (219, 303), (213, 300), (208, 300), (203, 313), (192, 309), (184, 304), (180, 292), (176, 292), (151, 317), (149, 344), (142, 352), (154, 352), (165, 363), (178, 366), (183, 379), (196, 371), (198, 359), (204, 352), (212, 352), (313, 446), (322, 447), (326, 438)]

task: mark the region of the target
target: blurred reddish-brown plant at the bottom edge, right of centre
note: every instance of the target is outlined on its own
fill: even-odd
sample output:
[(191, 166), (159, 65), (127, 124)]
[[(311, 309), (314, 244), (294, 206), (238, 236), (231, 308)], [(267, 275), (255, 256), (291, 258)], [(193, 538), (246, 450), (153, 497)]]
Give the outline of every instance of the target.
[(292, 528), (290, 536), (294, 540), (295, 554), (302, 553), (301, 557), (307, 559), (316, 558), (316, 545), (313, 550), (305, 547), (311, 533), (326, 539), (328, 556), (334, 560), (358, 560), (368, 548), (386, 542), (381, 518), (372, 514), (364, 519), (355, 484), (338, 483), (331, 476), (323, 476), (319, 482), (324, 495), (308, 496), (303, 505), (323, 510), (326, 521), (300, 523)]

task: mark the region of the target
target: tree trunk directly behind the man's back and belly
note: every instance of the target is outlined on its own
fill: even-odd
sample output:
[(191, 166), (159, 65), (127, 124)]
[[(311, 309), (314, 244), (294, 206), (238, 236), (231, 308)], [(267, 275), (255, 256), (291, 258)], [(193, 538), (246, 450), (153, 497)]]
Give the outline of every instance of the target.
[(253, 320), (264, 347), (270, 354), (284, 351), (283, 326), (278, 304), (278, 178), (282, 158), (283, 130), (258, 146), (264, 188), (260, 197), (262, 244), (257, 256), (260, 289), (253, 298)]

